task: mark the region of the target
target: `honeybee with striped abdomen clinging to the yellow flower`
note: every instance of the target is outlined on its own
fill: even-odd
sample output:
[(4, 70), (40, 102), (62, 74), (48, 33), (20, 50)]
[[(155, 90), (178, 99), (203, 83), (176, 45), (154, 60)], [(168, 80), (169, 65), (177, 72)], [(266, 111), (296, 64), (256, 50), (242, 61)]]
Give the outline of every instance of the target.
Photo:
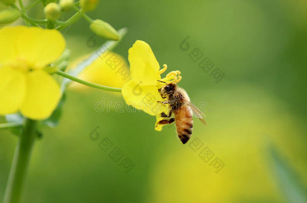
[[(159, 81), (163, 82), (163, 81)], [(166, 83), (166, 82), (163, 82)], [(169, 104), (170, 113), (161, 113), (161, 117), (170, 118), (174, 113), (175, 118), (165, 119), (158, 122), (158, 125), (170, 124), (176, 121), (177, 134), (183, 144), (187, 143), (193, 131), (193, 112), (200, 121), (206, 124), (205, 115), (190, 102), (187, 92), (176, 83), (169, 83), (159, 89), (159, 93), (166, 101), (159, 103)]]

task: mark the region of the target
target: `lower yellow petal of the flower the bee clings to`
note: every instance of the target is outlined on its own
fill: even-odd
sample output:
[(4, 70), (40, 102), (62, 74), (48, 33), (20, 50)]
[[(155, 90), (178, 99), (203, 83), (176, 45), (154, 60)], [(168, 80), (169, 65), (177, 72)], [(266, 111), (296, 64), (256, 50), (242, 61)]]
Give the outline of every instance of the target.
[(152, 116), (168, 112), (166, 105), (157, 102), (163, 99), (154, 85), (140, 86), (131, 80), (123, 86), (122, 95), (128, 105)]

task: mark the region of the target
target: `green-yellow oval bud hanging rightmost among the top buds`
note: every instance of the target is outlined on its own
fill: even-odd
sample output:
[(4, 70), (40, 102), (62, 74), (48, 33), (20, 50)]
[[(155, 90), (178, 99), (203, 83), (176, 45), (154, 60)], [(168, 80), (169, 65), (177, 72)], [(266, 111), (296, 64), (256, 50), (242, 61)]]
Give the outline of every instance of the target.
[(96, 19), (90, 25), (90, 29), (98, 36), (103, 37), (108, 40), (119, 40), (119, 35), (117, 31), (108, 23)]

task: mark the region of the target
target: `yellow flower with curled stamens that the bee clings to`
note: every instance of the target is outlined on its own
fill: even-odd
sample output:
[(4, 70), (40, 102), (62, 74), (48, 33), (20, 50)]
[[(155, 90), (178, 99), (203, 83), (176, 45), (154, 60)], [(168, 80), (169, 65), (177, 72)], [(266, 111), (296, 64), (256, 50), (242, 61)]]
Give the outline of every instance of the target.
[[(179, 82), (181, 80), (180, 71), (172, 71), (166, 78), (161, 79), (161, 74), (167, 69), (163, 65), (160, 70), (159, 63), (152, 53), (149, 45), (143, 41), (137, 40), (129, 49), (128, 60), (130, 63), (131, 80), (122, 88), (122, 95), (128, 105), (140, 109), (145, 113), (157, 118), (157, 122), (163, 120), (160, 115), (162, 112), (169, 113), (169, 108), (165, 104), (158, 103), (164, 101), (159, 93), (159, 88), (165, 83), (159, 82)], [(157, 125), (155, 129), (162, 130), (162, 125)]]

